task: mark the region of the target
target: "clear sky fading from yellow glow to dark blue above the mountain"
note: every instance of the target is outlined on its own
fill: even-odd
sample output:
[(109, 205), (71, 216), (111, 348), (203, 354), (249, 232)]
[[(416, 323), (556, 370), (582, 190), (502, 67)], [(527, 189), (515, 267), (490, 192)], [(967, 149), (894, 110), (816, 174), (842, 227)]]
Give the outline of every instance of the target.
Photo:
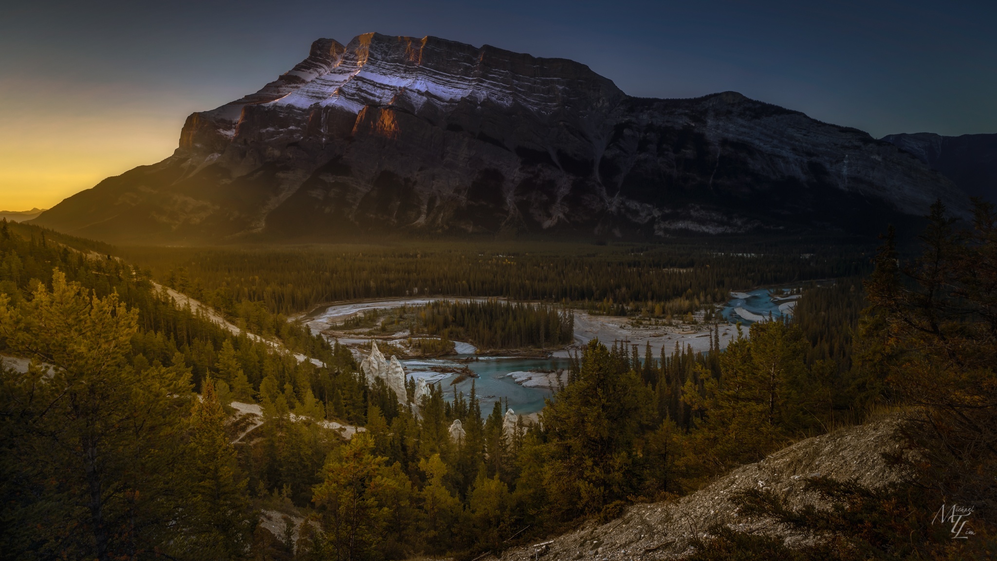
[(997, 2), (0, 3), (0, 211), (159, 162), (187, 115), (320, 37), (435, 35), (587, 64), (624, 92), (733, 90), (879, 138), (997, 133)]

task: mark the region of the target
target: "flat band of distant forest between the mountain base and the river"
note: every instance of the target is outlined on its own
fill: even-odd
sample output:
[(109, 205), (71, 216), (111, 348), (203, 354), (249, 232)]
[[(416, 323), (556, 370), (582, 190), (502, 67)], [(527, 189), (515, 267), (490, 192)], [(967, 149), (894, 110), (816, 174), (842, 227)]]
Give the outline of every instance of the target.
[(403, 296), (481, 296), (569, 303), (611, 314), (683, 314), (732, 289), (860, 275), (859, 245), (502, 245), (121, 248), (145, 274), (238, 315), (245, 300), (291, 315), (320, 303)]

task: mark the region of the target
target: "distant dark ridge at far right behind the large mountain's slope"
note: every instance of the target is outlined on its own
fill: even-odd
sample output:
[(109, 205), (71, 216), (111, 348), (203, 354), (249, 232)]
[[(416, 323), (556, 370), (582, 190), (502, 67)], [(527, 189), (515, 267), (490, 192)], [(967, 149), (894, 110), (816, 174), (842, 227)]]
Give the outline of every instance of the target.
[(971, 197), (997, 204), (997, 135), (915, 133), (888, 135), (882, 140), (913, 154)]

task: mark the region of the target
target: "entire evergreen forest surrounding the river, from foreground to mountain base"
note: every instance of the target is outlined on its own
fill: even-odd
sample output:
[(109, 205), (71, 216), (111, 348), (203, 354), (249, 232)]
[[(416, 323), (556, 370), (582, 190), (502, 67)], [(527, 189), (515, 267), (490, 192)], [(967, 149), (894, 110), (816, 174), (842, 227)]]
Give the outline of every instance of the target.
[[(133, 266), (101, 255), (112, 249), (4, 224), (0, 352), (32, 362), (26, 371), (2, 372), (0, 551), (11, 559), (471, 560), (584, 520), (612, 520), (628, 504), (683, 496), (835, 426), (906, 411), (917, 421), (910, 438), (925, 461), (911, 466), (904, 485), (873, 493), (819, 480), (839, 505), (824, 514), (762, 492), (739, 498), (743, 508), (833, 539), (790, 550), (720, 528), (691, 558), (984, 559), (991, 540), (953, 543), (924, 515), (945, 499), (992, 512), (993, 210), (981, 205), (967, 230), (936, 206), (920, 244), (921, 253), (902, 256), (887, 235), (877, 253), (850, 261), (666, 260), (668, 252), (648, 248), (642, 258), (605, 250), (561, 260), (483, 256), (477, 265), (449, 255), (458, 264), (451, 268), (421, 263), (439, 266), (448, 259), (442, 251), (394, 263), (394, 250), (364, 248), (366, 257), (358, 251), (339, 261), (302, 251), (272, 270), (263, 264), (277, 253), (249, 252), (238, 265), (238, 252), (219, 252), (212, 263), (210, 251), (177, 250), (200, 256), (177, 273), (175, 266), (157, 269), (153, 259)], [(310, 264), (300, 270), (311, 271), (314, 283), (282, 284), (296, 279), (291, 263)], [(529, 273), (501, 275), (502, 268)], [(672, 268), (697, 273), (665, 271)], [(476, 281), (460, 284), (462, 272)], [(319, 281), (326, 274), (342, 277)], [(520, 421), (511, 430), (501, 404), (481, 410), (474, 386), (470, 395), (450, 396), (433, 386), (417, 403), (412, 388), (396, 396), (380, 381), (370, 385), (346, 348), (284, 315), (417, 286), (420, 293), (518, 294), (559, 305), (612, 300), (622, 311), (605, 312), (635, 313), (649, 302), (652, 309), (683, 297), (702, 304), (726, 297), (730, 287), (829, 277), (838, 281), (809, 286), (792, 320), (754, 323), (750, 336), (723, 351), (718, 325), (707, 352), (676, 347), (652, 356), (649, 347), (593, 340), (572, 359), (542, 423)], [(298, 362), (176, 308), (154, 279), (221, 302), (251, 330), (324, 365)], [(485, 311), (475, 317), (497, 313), (489, 311), (497, 303), (476, 305)], [(441, 302), (446, 313), (429, 314), (427, 325), (474, 332), (472, 321), (456, 319), (463, 313), (456, 306)], [(546, 309), (544, 332), (556, 338), (567, 328), (565, 315)], [(233, 434), (232, 399), (263, 412), (251, 438)], [(366, 430), (345, 440), (324, 419)], [(455, 439), (448, 429), (457, 419), (465, 433)], [(305, 519), (296, 545), (262, 527), (263, 511)], [(890, 513), (900, 515), (874, 531), (855, 523)], [(994, 535), (990, 516), (975, 522), (982, 536)]]

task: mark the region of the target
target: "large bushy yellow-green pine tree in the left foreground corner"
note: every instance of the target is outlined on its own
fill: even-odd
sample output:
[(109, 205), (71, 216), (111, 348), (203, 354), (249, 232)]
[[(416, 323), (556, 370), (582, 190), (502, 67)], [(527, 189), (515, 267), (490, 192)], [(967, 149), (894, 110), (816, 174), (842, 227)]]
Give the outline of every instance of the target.
[(88, 296), (59, 270), (51, 291), (38, 283), (30, 301), (7, 301), (0, 294), (0, 338), (37, 360), (26, 374), (4, 372), (0, 391), (17, 544), (101, 561), (169, 550), (168, 521), (182, 515), (172, 471), (189, 371), (133, 368), (138, 310), (116, 293)]

